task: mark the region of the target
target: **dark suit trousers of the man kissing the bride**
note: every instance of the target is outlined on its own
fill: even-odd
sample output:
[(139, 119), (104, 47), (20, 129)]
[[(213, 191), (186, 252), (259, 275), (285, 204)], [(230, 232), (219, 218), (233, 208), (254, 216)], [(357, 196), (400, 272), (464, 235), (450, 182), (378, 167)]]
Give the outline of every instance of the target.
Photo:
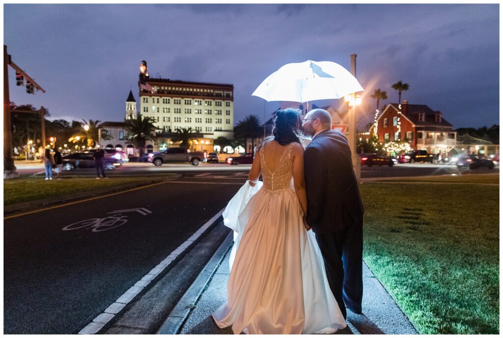
[(363, 296), (363, 221), (346, 229), (315, 234), (326, 277), (344, 318), (346, 307), (362, 312)]

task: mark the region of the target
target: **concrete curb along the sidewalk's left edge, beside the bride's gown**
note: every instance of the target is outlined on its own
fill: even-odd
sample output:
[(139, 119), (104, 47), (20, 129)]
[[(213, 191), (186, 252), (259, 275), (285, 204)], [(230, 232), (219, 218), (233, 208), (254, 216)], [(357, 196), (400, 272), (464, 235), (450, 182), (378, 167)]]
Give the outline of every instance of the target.
[(196, 277), (194, 283), (192, 283), (187, 292), (178, 301), (177, 305), (173, 308), (155, 334), (177, 334), (180, 331), (180, 328), (193, 309), (194, 304), (220, 266), (232, 242), (233, 232), (227, 235), (208, 264), (206, 264), (201, 273)]

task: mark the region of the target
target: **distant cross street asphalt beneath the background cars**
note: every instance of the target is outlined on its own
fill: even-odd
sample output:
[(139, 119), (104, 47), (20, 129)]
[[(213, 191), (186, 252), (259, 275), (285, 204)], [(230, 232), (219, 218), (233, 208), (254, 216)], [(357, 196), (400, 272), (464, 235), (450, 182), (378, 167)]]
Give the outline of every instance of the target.
[[(124, 175), (162, 175), (164, 173), (178, 173), (185, 177), (196, 176), (200, 174), (209, 174), (217, 176), (239, 175), (247, 173), (250, 170), (250, 164), (228, 165), (224, 163), (201, 163), (198, 166), (190, 164), (164, 164), (154, 166), (151, 163), (125, 163), (114, 170), (107, 171), (110, 177)], [(19, 165), (18, 172), (22, 175), (33, 175), (39, 173), (43, 175), (42, 166)], [(487, 174), (499, 172), (499, 165), (490, 170), (487, 168), (478, 168), (468, 171), (466, 168), (459, 169), (454, 164), (430, 164), (430, 163), (399, 163), (392, 167), (389, 166), (361, 166), (362, 178), (378, 177), (407, 177), (407, 176), (426, 176), (426, 175), (451, 175), (451, 174)], [(69, 172), (63, 172), (62, 175), (82, 175), (94, 176), (94, 169), (78, 169)]]

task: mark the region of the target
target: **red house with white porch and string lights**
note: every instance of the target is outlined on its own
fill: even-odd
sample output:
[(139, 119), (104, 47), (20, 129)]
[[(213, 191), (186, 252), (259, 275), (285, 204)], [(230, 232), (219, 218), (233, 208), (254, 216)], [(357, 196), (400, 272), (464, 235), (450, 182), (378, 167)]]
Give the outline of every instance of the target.
[[(442, 154), (456, 146), (456, 132), (440, 111), (427, 105), (409, 105), (406, 100), (401, 106), (390, 103), (381, 109), (377, 119), (379, 142), (408, 142), (412, 149)], [(371, 134), (373, 131), (374, 125), (369, 129)]]

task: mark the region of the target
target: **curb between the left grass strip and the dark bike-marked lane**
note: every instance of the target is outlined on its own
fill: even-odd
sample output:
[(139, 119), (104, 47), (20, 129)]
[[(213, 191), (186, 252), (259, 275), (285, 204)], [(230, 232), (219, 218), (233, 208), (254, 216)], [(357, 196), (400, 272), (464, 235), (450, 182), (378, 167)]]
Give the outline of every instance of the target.
[(141, 187), (144, 185), (152, 184), (152, 183), (157, 183), (160, 181), (172, 181), (172, 180), (177, 180), (181, 178), (182, 175), (180, 174), (174, 174), (173, 177), (170, 177), (168, 179), (164, 180), (155, 180), (152, 179), (150, 183), (131, 183), (131, 184), (125, 184), (125, 185), (120, 185), (116, 187), (108, 187), (108, 188), (102, 188), (102, 189), (97, 189), (97, 190), (91, 190), (88, 192), (81, 192), (81, 193), (75, 193), (75, 194), (69, 194), (65, 196), (59, 196), (59, 197), (52, 197), (44, 200), (36, 200), (36, 201), (30, 201), (30, 202), (22, 202), (22, 203), (16, 203), (16, 204), (11, 204), (4, 206), (4, 215), (6, 213), (14, 213), (18, 211), (24, 211), (26, 209), (32, 209), (36, 207), (43, 207), (43, 206), (48, 206), (51, 204), (56, 204), (56, 203), (61, 203), (61, 202), (68, 202), (84, 197), (92, 197), (92, 196), (97, 196), (97, 195), (103, 195), (106, 193), (114, 192), (114, 191), (120, 191), (120, 190), (127, 190), (130, 188), (137, 188)]

